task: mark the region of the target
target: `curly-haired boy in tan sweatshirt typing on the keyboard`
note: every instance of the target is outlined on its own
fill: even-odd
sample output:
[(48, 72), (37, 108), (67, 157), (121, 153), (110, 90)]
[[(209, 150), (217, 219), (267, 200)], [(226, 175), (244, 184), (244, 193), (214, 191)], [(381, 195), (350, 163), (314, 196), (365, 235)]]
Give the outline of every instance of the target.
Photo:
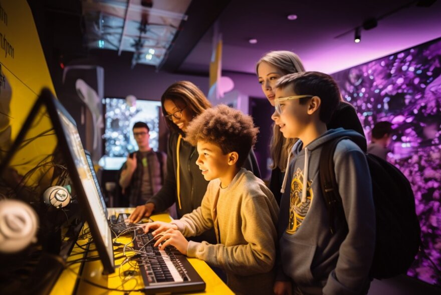
[[(187, 127), (185, 140), (197, 146), (196, 164), (207, 190), (200, 207), (170, 223), (152, 222), (145, 232), (163, 232), (161, 249), (175, 246), (189, 257), (223, 268), (235, 293), (272, 294), (279, 207), (265, 183), (241, 168), (256, 142), (258, 128), (241, 111), (218, 105)], [(214, 228), (217, 244), (187, 241)]]

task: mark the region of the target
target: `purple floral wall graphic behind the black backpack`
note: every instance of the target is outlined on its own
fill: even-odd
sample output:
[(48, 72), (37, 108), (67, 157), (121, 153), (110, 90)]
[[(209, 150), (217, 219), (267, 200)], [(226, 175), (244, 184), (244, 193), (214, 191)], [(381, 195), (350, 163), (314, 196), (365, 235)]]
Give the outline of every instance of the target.
[(407, 274), (441, 285), (441, 38), (332, 76), (368, 141), (375, 122), (393, 123), (388, 160), (409, 179), (421, 225), (421, 251)]

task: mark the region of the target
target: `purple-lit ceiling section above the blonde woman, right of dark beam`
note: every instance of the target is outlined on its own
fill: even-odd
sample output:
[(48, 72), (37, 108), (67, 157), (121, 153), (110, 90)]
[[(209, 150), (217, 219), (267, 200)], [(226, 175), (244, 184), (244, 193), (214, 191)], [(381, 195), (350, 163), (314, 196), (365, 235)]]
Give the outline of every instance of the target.
[[(292, 50), (306, 69), (335, 72), (441, 36), (441, 1), (403, 0), (232, 0), (219, 15), (224, 40), (223, 69), (254, 73), (269, 50)], [(296, 14), (296, 20), (288, 20)], [(378, 25), (355, 28), (370, 18)], [(206, 71), (210, 28), (180, 66)], [(256, 38), (256, 44), (248, 40)]]

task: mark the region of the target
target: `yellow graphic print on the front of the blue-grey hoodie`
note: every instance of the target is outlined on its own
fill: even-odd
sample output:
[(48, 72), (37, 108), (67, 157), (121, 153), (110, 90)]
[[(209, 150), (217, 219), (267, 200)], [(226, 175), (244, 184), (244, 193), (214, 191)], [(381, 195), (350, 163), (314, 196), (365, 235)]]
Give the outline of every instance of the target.
[(309, 180), (306, 186), (306, 201), (302, 203), (302, 190), (303, 190), (303, 172), (300, 168), (294, 172), (293, 179), (291, 180), (290, 189), (290, 214), (287, 233), (295, 233), (303, 219), (305, 219), (306, 213), (308, 213), (311, 205), (314, 193), (311, 189), (312, 181)]

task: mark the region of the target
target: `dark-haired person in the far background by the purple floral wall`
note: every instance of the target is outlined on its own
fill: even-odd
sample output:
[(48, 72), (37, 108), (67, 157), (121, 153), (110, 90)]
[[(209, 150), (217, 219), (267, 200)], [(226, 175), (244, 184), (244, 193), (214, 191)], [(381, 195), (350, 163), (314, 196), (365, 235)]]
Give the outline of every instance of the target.
[(367, 145), (367, 152), (379, 156), (383, 160), (390, 151), (389, 145), (392, 140), (392, 123), (388, 121), (377, 122), (372, 128), (372, 139)]

